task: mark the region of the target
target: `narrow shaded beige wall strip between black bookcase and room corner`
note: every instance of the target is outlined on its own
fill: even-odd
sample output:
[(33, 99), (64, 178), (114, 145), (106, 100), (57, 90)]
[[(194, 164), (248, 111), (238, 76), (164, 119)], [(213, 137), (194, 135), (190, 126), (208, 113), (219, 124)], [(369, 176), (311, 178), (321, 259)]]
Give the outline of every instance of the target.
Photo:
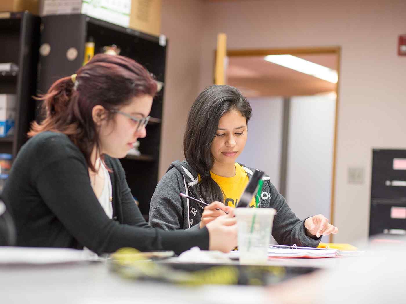
[(186, 116), (199, 93), (204, 28), (200, 0), (162, 0), (162, 34), (168, 38), (163, 105), (160, 178), (172, 161), (184, 159)]

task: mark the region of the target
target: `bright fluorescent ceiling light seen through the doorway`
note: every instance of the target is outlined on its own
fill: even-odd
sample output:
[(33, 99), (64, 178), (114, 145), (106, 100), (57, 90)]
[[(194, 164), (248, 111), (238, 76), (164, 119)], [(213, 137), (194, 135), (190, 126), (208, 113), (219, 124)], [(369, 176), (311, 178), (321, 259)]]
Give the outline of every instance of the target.
[(314, 77), (337, 83), (337, 71), (292, 55), (268, 55), (265, 60)]

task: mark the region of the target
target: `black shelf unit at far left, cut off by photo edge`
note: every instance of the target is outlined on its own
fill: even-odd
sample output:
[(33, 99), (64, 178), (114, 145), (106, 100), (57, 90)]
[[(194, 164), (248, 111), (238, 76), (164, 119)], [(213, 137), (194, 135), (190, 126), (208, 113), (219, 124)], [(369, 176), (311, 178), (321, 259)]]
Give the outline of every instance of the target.
[(16, 94), (14, 134), (0, 137), (0, 153), (13, 158), (26, 142), (34, 120), (40, 19), (28, 12), (2, 13), (0, 19), (0, 61), (13, 62), (17, 71), (0, 71), (0, 94)]

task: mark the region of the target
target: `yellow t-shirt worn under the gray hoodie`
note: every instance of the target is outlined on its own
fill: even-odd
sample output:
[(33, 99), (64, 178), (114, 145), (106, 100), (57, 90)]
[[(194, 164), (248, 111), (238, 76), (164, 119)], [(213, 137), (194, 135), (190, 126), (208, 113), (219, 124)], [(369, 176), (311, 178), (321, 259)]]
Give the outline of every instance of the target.
[[(248, 175), (240, 164), (235, 163), (235, 176), (226, 178), (210, 172), (212, 179), (220, 186), (224, 192), (224, 203), (226, 206), (235, 208), (238, 204), (238, 200), (242, 195), (246, 185), (248, 184)], [(200, 181), (200, 176), (199, 176)], [(255, 207), (255, 198), (253, 197), (250, 207)]]

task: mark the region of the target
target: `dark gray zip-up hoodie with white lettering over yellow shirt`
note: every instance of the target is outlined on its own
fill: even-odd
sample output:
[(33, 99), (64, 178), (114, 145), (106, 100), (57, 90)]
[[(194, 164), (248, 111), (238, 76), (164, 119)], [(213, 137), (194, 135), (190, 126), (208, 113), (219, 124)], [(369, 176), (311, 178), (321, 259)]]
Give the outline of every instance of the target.
[[(255, 169), (241, 166), (248, 178), (251, 177)], [(164, 230), (199, 229), (205, 206), (179, 195), (185, 193), (198, 198), (198, 183), (198, 173), (186, 161), (174, 161), (155, 188), (149, 207), (149, 224)], [(278, 244), (317, 247), (320, 243), (321, 237), (313, 239), (306, 235), (304, 220), (300, 221), (292, 212), (269, 176), (263, 177), (259, 207), (276, 209), (272, 236)]]

